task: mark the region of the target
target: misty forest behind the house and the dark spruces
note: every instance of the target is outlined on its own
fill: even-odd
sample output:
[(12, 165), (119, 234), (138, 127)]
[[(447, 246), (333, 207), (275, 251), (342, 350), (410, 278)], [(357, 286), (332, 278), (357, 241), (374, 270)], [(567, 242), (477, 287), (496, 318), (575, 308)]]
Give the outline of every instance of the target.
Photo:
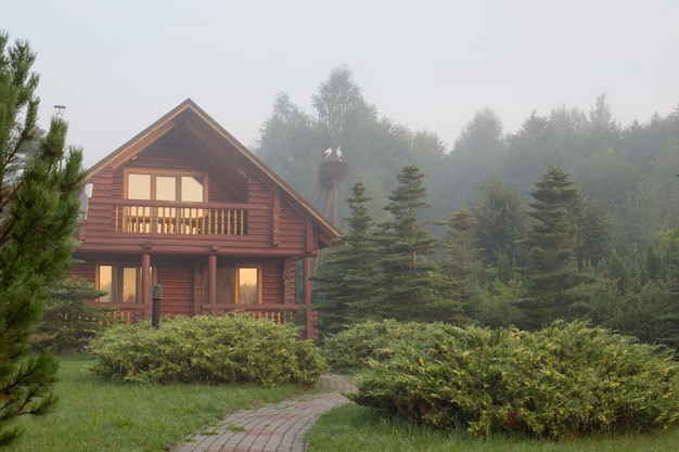
[[(679, 107), (622, 125), (602, 93), (589, 112), (555, 105), (549, 115), (529, 114), (510, 134), (501, 118), (484, 108), (447, 148), (435, 133), (381, 115), (346, 67), (333, 69), (319, 85), (311, 105), (305, 112), (280, 93), (255, 153), (345, 232), (356, 214), (345, 199), (357, 182), (371, 221), (388, 222), (394, 212), (386, 206), (400, 180), (396, 176), (415, 166), (426, 190), (418, 225), (440, 238), (430, 259), (439, 260), (453, 280), (458, 323), (538, 326), (535, 300), (545, 294), (536, 285), (540, 269), (530, 235), (546, 224), (536, 214), (545, 201), (536, 191), (556, 176), (577, 192), (574, 242), (564, 264), (575, 266), (572, 273), (580, 276), (569, 277), (561, 290), (568, 293), (567, 301), (552, 299), (563, 306), (548, 310), (540, 322), (586, 319), (643, 341), (677, 345)], [(323, 152), (340, 146), (348, 176), (338, 186), (334, 214), (318, 177)], [(460, 227), (462, 219), (466, 227)], [(318, 284), (317, 301), (323, 307), (328, 293), (322, 281)], [(325, 307), (330, 312), (337, 308)], [(336, 331), (350, 320), (345, 314), (325, 317), (324, 325), (322, 318), (321, 325)]]

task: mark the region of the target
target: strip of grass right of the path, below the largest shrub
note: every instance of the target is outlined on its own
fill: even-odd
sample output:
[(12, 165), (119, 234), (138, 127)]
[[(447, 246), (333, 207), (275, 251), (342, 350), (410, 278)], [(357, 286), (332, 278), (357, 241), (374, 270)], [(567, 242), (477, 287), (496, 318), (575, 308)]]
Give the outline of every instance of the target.
[(321, 416), (307, 441), (308, 452), (674, 452), (679, 428), (561, 442), (474, 439), (462, 431), (443, 432), (384, 418), (372, 409), (349, 403)]

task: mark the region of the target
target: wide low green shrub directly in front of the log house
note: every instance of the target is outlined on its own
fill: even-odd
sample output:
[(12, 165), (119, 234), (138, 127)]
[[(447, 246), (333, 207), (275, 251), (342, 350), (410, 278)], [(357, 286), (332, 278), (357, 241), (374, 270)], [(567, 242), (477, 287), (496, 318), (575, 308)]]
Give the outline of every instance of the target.
[(128, 382), (310, 386), (325, 364), (299, 331), (248, 315), (164, 319), (115, 326), (90, 344), (94, 374)]

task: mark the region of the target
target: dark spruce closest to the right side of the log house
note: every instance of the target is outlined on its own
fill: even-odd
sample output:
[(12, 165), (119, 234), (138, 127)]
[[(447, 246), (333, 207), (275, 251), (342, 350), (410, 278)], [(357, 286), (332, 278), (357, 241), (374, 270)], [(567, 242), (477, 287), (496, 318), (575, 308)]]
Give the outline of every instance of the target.
[(374, 299), (375, 243), (373, 219), (367, 203), (370, 196), (361, 181), (347, 198), (351, 216), (345, 218), (348, 231), (328, 251), (312, 277), (313, 292), (321, 296), (316, 304), (321, 334), (333, 334), (357, 320), (371, 318)]

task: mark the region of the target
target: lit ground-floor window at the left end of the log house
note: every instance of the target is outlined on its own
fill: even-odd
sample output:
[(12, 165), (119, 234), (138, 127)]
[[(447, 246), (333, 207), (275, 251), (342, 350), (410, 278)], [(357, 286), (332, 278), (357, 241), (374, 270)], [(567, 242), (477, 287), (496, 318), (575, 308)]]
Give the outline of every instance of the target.
[[(153, 268), (150, 276), (146, 290), (151, 290)], [(97, 299), (99, 302), (141, 302), (141, 266), (99, 264), (97, 288), (107, 292)]]

